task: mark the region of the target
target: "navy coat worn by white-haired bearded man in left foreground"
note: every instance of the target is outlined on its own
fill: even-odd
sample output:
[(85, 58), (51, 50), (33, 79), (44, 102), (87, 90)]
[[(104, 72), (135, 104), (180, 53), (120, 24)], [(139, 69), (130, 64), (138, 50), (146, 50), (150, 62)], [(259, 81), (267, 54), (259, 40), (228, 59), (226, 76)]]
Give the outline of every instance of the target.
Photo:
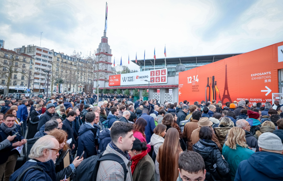
[[(38, 165), (42, 167), (43, 171), (37, 169), (29, 169), (23, 176), (22, 181), (28, 180), (36, 180), (36, 181), (55, 181), (56, 173), (55, 173), (55, 165), (52, 160), (46, 162), (37, 162), (34, 160), (29, 160), (25, 162), (25, 164), (16, 170), (11, 176), (10, 181), (15, 181), (16, 178), (28, 167)], [(62, 178), (63, 179), (63, 178)]]

